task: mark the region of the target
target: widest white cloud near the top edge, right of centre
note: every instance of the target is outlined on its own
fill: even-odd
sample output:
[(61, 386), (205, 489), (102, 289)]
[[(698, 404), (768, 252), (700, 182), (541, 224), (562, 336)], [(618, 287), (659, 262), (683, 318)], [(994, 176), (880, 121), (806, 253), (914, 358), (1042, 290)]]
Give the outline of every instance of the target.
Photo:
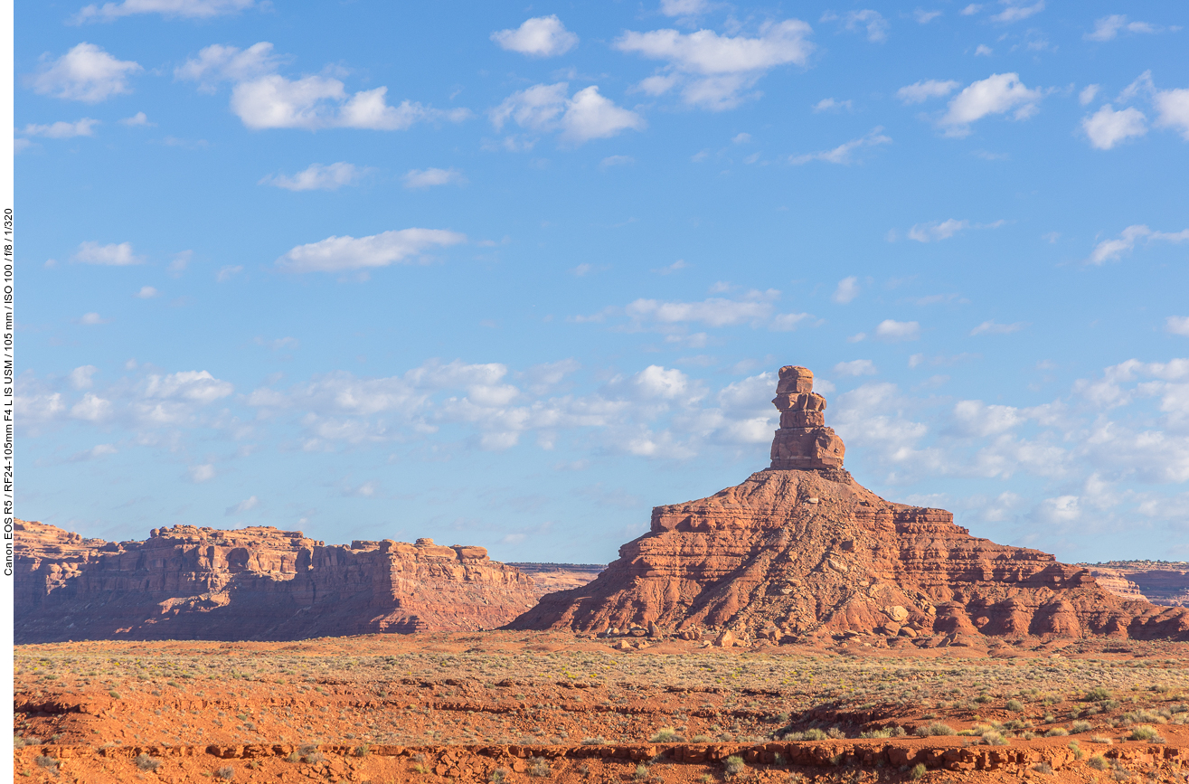
[(638, 84), (644, 93), (660, 95), (680, 87), (686, 104), (717, 112), (738, 106), (748, 98), (747, 90), (773, 68), (805, 65), (813, 51), (807, 40), (811, 32), (804, 21), (786, 19), (761, 25), (755, 38), (719, 36), (713, 30), (628, 31), (614, 46), (667, 62)]

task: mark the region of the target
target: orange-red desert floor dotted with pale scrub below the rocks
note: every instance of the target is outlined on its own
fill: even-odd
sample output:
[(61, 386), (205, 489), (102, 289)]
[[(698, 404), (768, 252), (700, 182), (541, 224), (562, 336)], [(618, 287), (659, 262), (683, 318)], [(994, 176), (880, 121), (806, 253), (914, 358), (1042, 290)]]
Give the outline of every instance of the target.
[(1189, 644), (609, 642), (20, 646), (17, 780), (1189, 780)]

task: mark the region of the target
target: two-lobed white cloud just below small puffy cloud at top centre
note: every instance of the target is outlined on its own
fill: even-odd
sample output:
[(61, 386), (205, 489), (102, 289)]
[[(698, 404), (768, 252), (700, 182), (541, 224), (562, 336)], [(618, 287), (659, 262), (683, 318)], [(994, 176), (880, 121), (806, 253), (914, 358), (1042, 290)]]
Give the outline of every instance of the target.
[(529, 131), (560, 131), (561, 138), (574, 144), (616, 136), (621, 131), (641, 131), (644, 119), (616, 106), (592, 86), (567, 98), (570, 84), (534, 84), (508, 96), (491, 111), (491, 123), (502, 130), (509, 120)]

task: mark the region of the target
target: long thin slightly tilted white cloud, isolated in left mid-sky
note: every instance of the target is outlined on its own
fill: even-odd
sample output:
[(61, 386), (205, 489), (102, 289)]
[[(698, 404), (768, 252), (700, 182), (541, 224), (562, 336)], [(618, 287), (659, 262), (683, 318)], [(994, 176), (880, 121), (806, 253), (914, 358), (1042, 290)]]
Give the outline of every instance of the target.
[(432, 247), (465, 243), (466, 236), (441, 228), (403, 228), (370, 237), (327, 237), (298, 245), (277, 259), (287, 272), (341, 272), (411, 263)]

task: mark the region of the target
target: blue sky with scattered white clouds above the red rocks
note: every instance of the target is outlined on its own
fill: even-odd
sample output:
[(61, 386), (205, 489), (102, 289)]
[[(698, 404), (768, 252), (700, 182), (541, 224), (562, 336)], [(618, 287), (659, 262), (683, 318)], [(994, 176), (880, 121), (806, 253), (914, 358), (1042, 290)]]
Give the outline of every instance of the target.
[(1183, 4), (17, 24), (21, 516), (608, 562), (800, 364), (889, 500), (1189, 558)]

